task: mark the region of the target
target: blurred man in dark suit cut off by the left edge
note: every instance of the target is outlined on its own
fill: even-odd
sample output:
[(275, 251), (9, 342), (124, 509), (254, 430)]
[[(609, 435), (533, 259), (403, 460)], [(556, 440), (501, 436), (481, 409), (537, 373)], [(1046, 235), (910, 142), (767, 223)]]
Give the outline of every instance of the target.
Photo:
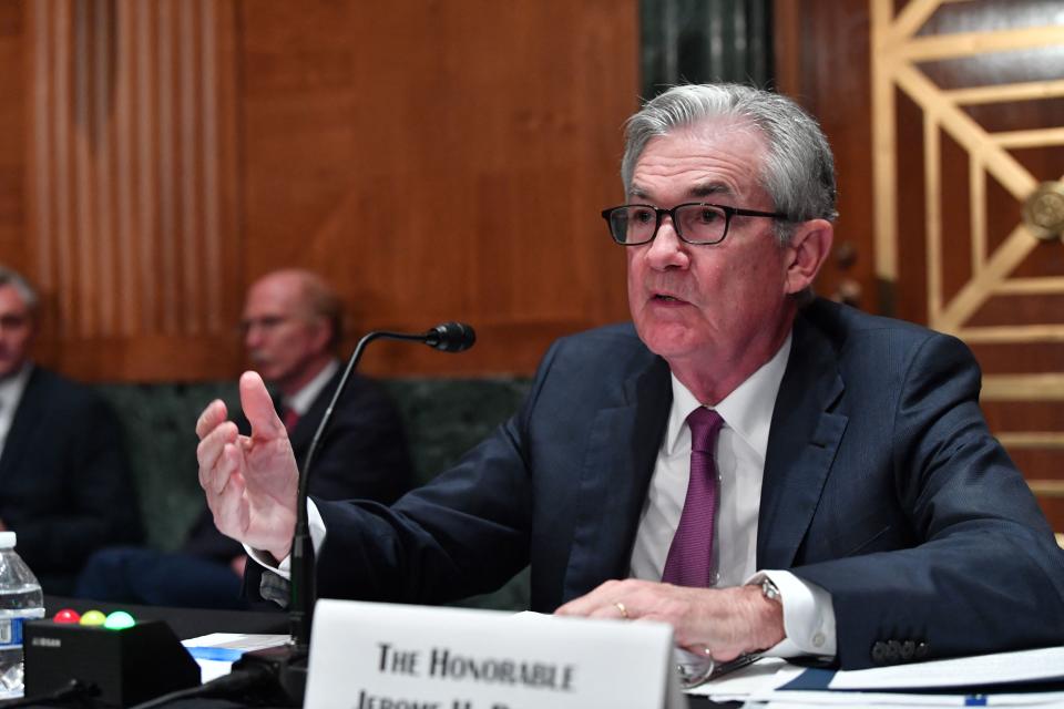
[(90, 388), (30, 361), (38, 296), (0, 266), (0, 530), (48, 594), (96, 548), (142, 536), (122, 428)]

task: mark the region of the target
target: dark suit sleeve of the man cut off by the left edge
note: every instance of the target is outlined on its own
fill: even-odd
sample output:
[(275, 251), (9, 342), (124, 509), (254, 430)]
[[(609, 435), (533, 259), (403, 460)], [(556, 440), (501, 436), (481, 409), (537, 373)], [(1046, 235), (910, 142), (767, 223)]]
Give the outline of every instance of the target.
[(93, 551), (143, 536), (122, 427), (106, 402), (80, 397), (53, 433), (52, 443), (62, 446), (65, 500), (16, 530), (20, 554), (41, 573), (76, 571)]

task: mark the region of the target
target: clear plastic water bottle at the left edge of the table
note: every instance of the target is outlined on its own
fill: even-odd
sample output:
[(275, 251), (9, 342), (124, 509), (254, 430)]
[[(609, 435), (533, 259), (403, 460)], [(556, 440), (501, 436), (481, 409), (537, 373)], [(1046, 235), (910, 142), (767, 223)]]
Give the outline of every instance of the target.
[(14, 542), (14, 532), (0, 532), (0, 698), (22, 695), (22, 623), (44, 617), (41, 585)]

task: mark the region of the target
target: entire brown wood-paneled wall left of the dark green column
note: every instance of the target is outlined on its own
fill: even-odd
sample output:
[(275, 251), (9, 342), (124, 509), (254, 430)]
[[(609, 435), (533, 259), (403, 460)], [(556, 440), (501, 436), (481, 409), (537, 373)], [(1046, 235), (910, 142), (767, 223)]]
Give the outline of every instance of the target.
[[(232, 377), (245, 287), (326, 276), (371, 328), (463, 319), (529, 373), (626, 317), (598, 210), (621, 199), (635, 0), (0, 1), (0, 260), (33, 278), (39, 359), (89, 380)], [(10, 143), (10, 145), (9, 145)]]

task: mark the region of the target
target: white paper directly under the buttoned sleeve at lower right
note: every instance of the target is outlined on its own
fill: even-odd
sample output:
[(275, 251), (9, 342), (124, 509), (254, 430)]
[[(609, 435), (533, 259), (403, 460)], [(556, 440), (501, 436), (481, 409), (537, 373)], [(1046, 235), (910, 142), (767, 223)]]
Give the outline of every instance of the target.
[(921, 689), (1054, 679), (1064, 679), (1064, 647), (839, 671), (835, 674), (828, 687), (831, 689)]

